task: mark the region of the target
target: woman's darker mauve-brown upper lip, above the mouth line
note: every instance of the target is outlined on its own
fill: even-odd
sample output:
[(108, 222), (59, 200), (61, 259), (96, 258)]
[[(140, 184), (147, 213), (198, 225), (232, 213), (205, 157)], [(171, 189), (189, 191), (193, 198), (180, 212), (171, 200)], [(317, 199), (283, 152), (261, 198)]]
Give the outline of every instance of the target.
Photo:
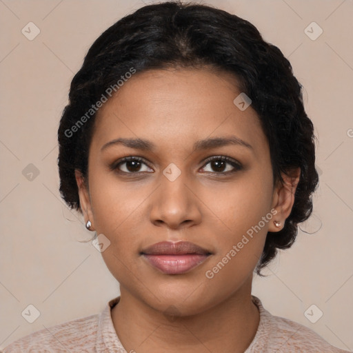
[(199, 245), (190, 243), (190, 241), (161, 241), (150, 245), (142, 250), (141, 254), (148, 255), (185, 255), (185, 254), (210, 254), (208, 250), (201, 248)]

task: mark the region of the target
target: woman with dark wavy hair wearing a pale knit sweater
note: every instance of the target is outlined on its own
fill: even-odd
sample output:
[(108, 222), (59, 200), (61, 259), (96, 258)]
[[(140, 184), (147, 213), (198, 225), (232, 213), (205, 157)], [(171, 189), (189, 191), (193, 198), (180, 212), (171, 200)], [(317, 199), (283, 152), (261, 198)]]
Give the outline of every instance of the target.
[(145, 6), (93, 43), (69, 99), (60, 192), (121, 295), (4, 352), (344, 352), (251, 294), (318, 184), (279, 48), (210, 6)]

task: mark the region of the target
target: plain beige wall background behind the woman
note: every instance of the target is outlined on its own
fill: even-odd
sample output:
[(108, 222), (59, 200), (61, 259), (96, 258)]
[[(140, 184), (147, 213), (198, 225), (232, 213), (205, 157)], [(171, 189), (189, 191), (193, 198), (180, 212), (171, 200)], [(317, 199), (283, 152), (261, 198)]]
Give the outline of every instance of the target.
[[(208, 1), (259, 29), (292, 63), (314, 122), (320, 187), (314, 216), (253, 294), (272, 314), (353, 350), (353, 2)], [(142, 1), (0, 1), (0, 348), (57, 323), (100, 312), (119, 294), (83, 221), (59, 196), (57, 128), (73, 74), (103, 30)], [(21, 30), (34, 22), (32, 41)], [(323, 34), (312, 40), (315, 21)], [(317, 28), (314, 28), (314, 34)], [(32, 181), (23, 170), (33, 163)], [(41, 313), (28, 323), (21, 312)], [(316, 323), (304, 316), (315, 304)]]

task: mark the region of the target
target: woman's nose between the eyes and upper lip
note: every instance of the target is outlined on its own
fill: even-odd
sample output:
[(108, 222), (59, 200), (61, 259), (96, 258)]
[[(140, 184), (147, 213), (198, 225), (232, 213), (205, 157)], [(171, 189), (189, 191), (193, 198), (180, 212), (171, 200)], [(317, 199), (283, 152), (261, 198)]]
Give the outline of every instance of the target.
[(181, 173), (174, 181), (164, 175), (150, 202), (150, 220), (154, 225), (173, 230), (201, 222), (201, 201), (192, 182)]

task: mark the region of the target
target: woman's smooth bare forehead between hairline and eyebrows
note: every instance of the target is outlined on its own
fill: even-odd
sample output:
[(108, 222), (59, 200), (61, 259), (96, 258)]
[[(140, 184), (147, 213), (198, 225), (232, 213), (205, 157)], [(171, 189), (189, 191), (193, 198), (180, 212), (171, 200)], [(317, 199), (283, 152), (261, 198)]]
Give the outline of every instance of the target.
[(141, 138), (165, 148), (188, 148), (206, 137), (235, 135), (254, 149), (267, 144), (251, 105), (240, 110), (236, 77), (200, 69), (134, 74), (97, 113), (92, 145), (119, 137)]

